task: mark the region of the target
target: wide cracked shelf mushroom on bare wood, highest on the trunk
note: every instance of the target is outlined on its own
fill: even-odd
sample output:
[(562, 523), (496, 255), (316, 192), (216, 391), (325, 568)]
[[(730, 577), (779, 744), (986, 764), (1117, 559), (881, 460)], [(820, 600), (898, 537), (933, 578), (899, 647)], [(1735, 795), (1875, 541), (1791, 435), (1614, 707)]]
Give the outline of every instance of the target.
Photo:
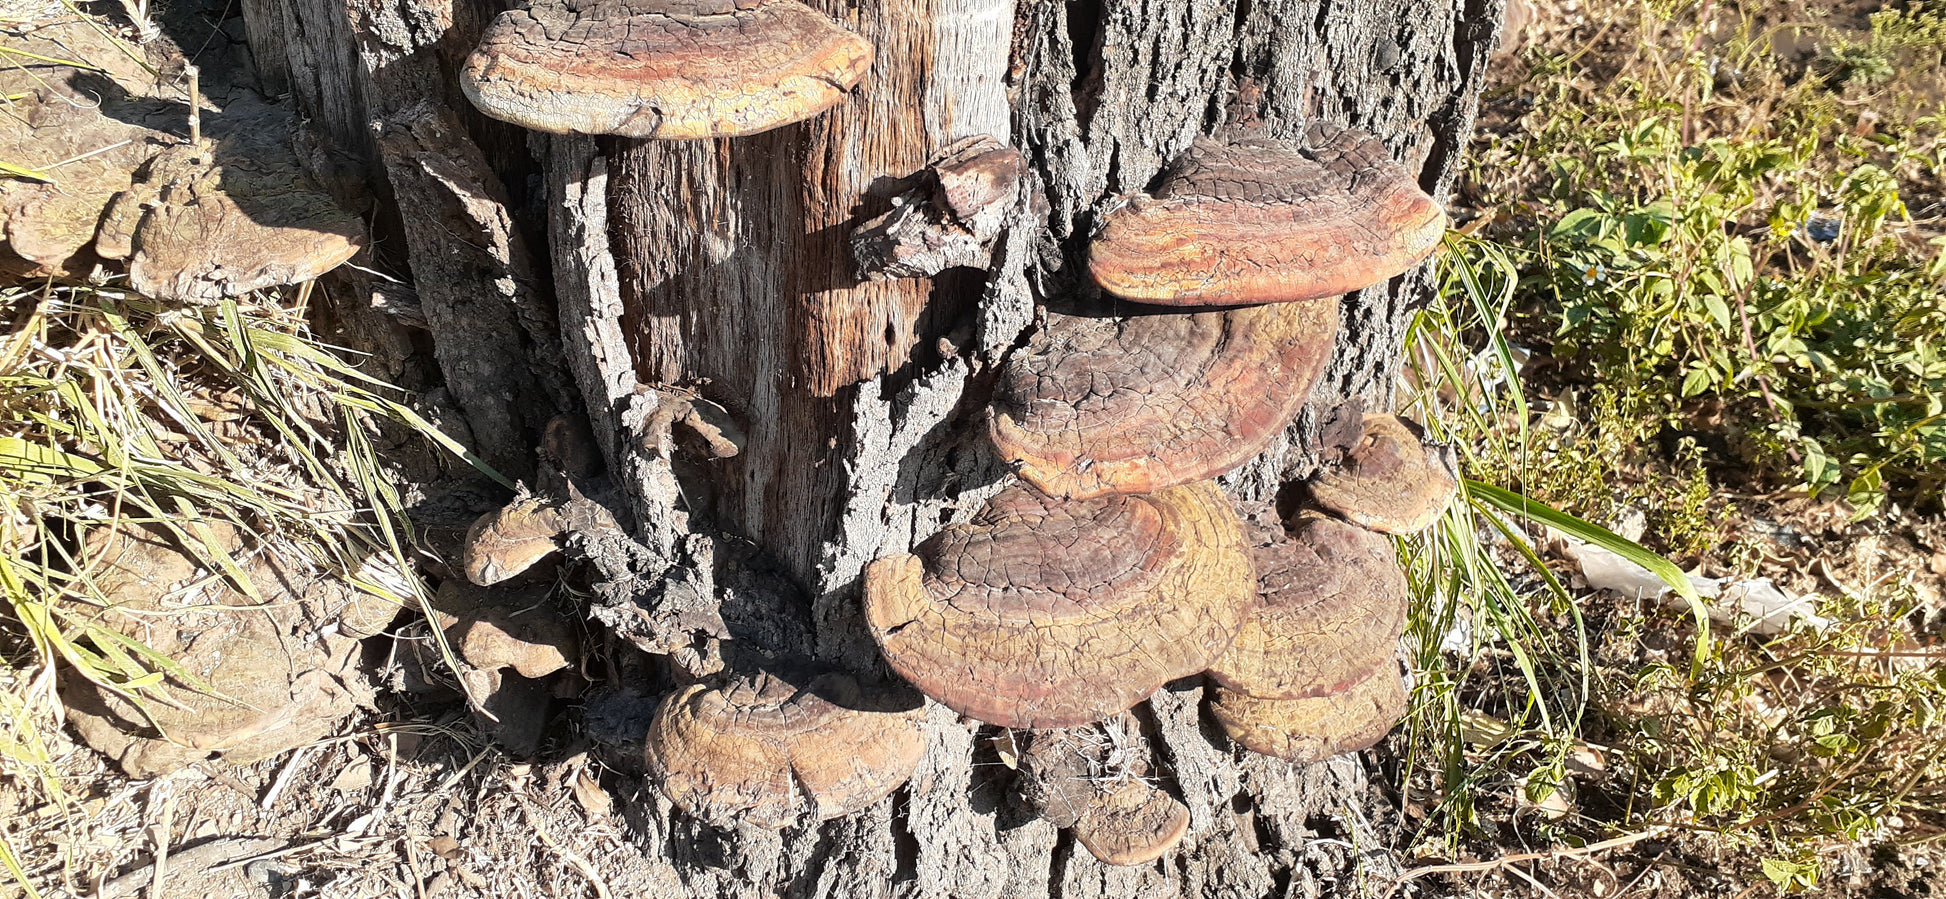
[(459, 70), (483, 113), (555, 134), (722, 138), (810, 119), (872, 45), (796, 0), (535, 0)]

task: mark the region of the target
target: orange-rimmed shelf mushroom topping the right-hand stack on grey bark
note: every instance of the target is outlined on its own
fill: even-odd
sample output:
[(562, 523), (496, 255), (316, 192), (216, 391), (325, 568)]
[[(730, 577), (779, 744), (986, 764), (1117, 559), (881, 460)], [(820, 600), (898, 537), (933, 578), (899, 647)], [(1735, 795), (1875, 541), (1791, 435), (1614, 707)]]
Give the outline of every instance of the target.
[(1368, 288), (1432, 255), (1446, 214), (1378, 138), (1314, 123), (1304, 144), (1199, 138), (1154, 197), (1107, 216), (1088, 270), (1144, 304), (1273, 304)]

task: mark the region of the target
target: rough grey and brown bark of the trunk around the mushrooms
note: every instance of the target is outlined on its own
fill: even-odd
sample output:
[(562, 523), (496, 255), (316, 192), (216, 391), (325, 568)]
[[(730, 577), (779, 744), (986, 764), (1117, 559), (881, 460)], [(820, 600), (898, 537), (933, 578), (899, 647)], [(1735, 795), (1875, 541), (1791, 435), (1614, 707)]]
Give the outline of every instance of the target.
[[(243, 4), (265, 84), (358, 148), (395, 200), (397, 263), (483, 455), (527, 473), (537, 426), (584, 407), (634, 521), (632, 582), (607, 601), (636, 621), (720, 609), (736, 640), (860, 671), (883, 671), (858, 613), (864, 564), (1010, 479), (983, 438), (991, 374), (1037, 302), (1086, 290), (1098, 216), (1197, 134), (1292, 138), (1312, 119), (1372, 130), (1444, 197), (1500, 18), (1500, 0), (811, 6), (878, 47), (848, 103), (747, 138), (640, 142), (475, 115), (453, 72), (498, 12), (479, 0)], [(860, 280), (850, 228), (971, 134), (1020, 148), (1045, 206), (1016, 210), (985, 272)], [(1312, 467), (1321, 413), (1387, 405), (1428, 292), (1421, 270), (1349, 296), (1306, 413), (1224, 486), (1265, 500)], [(656, 411), (675, 389), (732, 413), (736, 457), (669, 450)], [(595, 617), (652, 642), (613, 607)], [(1078, 852), (1008, 800), (994, 728), (938, 706), (920, 773), (848, 819), (712, 831), (642, 790), (642, 864), (722, 897), (1327, 895), (1393, 864), (1391, 804), (1364, 759), (1234, 749), (1199, 679), (1138, 716), (1191, 808), (1189, 837), (1156, 864)]]

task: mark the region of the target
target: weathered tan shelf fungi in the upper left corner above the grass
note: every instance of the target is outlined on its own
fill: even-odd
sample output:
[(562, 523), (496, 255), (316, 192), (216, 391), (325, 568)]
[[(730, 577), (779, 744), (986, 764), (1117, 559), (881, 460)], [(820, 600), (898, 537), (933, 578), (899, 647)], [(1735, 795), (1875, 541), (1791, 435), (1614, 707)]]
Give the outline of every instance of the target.
[(107, 31), (54, 21), (8, 49), (21, 62), (0, 70), (0, 158), (31, 177), (0, 179), (0, 272), (82, 278), (123, 261), (142, 296), (214, 304), (307, 282), (366, 245), (364, 222), (292, 148), (284, 105), (249, 90), (195, 97), (181, 140), (175, 86)]

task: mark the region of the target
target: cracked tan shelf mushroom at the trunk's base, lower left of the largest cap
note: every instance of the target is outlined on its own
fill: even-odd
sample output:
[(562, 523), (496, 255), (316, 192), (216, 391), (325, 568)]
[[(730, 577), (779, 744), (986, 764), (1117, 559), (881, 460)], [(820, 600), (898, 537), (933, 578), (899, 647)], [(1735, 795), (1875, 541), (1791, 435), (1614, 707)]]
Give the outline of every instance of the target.
[(664, 796), (710, 825), (825, 821), (913, 774), (924, 704), (903, 699), (868, 697), (847, 673), (775, 665), (664, 699), (644, 757)]

